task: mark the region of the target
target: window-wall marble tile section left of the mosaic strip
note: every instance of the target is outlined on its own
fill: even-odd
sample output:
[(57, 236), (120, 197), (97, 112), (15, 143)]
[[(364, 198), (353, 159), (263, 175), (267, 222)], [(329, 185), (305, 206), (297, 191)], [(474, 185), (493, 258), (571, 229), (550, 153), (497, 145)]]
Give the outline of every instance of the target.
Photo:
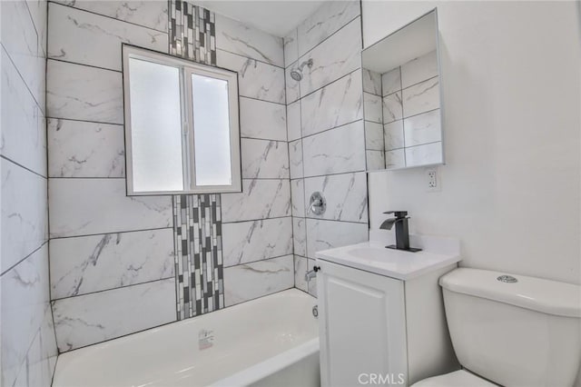
[(171, 196), (125, 194), (121, 45), (168, 52), (168, 2), (48, 4), (51, 299), (60, 352), (176, 320)]

